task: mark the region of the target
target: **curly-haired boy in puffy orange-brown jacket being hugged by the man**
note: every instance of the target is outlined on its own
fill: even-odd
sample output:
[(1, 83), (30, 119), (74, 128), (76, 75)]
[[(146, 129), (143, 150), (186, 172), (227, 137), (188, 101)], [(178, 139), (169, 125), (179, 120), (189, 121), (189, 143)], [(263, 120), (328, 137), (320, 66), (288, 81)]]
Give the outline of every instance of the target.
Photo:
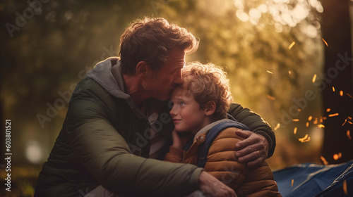
[[(234, 189), (237, 196), (281, 196), (267, 163), (249, 168), (235, 157), (234, 146), (242, 140), (236, 131), (247, 127), (227, 119), (232, 94), (225, 72), (211, 63), (192, 63), (182, 72), (184, 83), (176, 87), (171, 95), (170, 115), (175, 127), (173, 145), (164, 160), (204, 167), (206, 172)], [(216, 131), (213, 134), (215, 139), (207, 150), (207, 158), (202, 158), (199, 148), (210, 137), (208, 132), (210, 129), (215, 132), (212, 128), (225, 122), (235, 126)], [(186, 144), (185, 138), (181, 139), (178, 132), (189, 132), (193, 136), (192, 141)]]

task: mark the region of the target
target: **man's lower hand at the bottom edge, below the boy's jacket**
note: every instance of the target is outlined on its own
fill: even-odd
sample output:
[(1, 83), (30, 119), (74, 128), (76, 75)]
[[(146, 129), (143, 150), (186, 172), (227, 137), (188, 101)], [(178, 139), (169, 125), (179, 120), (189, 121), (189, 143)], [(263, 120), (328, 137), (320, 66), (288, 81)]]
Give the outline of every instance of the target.
[(210, 196), (226, 196), (226, 197), (237, 197), (234, 190), (226, 186), (218, 179), (213, 177), (211, 174), (203, 171), (198, 177), (198, 183), (200, 190)]

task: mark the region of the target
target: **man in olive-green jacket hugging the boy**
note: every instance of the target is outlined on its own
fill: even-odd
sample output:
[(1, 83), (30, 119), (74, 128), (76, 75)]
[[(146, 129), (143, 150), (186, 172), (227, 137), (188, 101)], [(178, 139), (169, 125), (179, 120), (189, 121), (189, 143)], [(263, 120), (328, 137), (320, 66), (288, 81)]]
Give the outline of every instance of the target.
[[(183, 82), (185, 53), (197, 47), (190, 32), (162, 18), (128, 27), (120, 58), (98, 63), (73, 92), (35, 196), (236, 196), (202, 168), (161, 161), (172, 139), (167, 100)], [(252, 130), (234, 147), (239, 161), (256, 165), (273, 154), (275, 136), (260, 116), (236, 104), (229, 113)]]

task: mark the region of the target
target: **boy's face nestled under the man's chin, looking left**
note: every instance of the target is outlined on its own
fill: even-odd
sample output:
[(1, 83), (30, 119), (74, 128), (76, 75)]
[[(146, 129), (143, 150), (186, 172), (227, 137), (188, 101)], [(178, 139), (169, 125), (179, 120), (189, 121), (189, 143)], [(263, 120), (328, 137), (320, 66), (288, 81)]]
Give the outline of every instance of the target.
[(191, 91), (176, 87), (172, 91), (171, 100), (173, 108), (169, 113), (172, 115), (177, 132), (192, 132), (196, 134), (200, 129), (208, 125), (205, 111), (195, 101)]

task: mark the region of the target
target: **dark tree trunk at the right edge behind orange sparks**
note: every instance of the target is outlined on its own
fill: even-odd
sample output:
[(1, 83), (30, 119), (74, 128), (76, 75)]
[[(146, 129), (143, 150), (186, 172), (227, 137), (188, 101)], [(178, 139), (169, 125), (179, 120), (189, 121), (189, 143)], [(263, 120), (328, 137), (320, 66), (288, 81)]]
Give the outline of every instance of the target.
[[(323, 0), (322, 34), (325, 66), (320, 89), (323, 93), (325, 135), (323, 157), (328, 163), (353, 159), (352, 38), (349, 0)], [(342, 94), (342, 95), (341, 95)], [(338, 114), (338, 115), (337, 115)], [(349, 122), (348, 122), (349, 121)], [(349, 134), (349, 132), (351, 134)]]

